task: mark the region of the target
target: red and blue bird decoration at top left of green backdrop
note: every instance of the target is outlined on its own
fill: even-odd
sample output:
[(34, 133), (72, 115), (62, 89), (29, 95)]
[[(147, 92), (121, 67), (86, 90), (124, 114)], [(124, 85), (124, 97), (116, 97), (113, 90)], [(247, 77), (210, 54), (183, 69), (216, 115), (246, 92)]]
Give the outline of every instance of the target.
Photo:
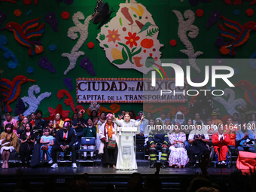
[[(41, 46), (40, 41), (31, 41), (30, 38), (40, 37), (44, 32), (44, 23), (38, 26), (40, 18), (35, 20), (29, 20), (20, 26), (18, 23), (9, 22), (6, 24), (6, 29), (14, 32), (15, 39), (26, 47), (29, 47), (29, 55), (32, 56), (35, 53), (41, 53), (44, 49)], [(38, 26), (37, 29), (33, 29)], [(35, 47), (35, 48), (34, 48)]]

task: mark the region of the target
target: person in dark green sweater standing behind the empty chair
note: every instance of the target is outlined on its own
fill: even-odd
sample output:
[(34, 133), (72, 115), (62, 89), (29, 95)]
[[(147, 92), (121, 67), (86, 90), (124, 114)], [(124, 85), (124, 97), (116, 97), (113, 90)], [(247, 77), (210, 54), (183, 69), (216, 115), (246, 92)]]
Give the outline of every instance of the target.
[[(95, 137), (96, 138), (97, 128), (93, 126), (93, 118), (89, 117), (87, 120), (87, 126), (84, 127), (84, 137)], [(87, 146), (84, 145), (84, 149), (93, 149), (93, 145)], [(84, 152), (84, 160), (87, 159), (87, 152)], [(90, 160), (94, 160), (93, 158), (93, 151), (90, 152)]]

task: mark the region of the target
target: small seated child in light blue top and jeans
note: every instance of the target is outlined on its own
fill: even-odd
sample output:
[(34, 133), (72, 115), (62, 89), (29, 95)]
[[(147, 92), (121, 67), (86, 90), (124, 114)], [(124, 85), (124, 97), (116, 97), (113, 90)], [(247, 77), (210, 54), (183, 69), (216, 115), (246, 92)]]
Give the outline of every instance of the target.
[(52, 150), (52, 146), (54, 145), (53, 139), (54, 139), (53, 136), (50, 136), (50, 129), (45, 128), (44, 136), (41, 136), (41, 139), (40, 139), (40, 143), (43, 144), (41, 145), (41, 161), (44, 160), (44, 151), (45, 151), (48, 163), (53, 163), (53, 160), (51, 159), (51, 150)]

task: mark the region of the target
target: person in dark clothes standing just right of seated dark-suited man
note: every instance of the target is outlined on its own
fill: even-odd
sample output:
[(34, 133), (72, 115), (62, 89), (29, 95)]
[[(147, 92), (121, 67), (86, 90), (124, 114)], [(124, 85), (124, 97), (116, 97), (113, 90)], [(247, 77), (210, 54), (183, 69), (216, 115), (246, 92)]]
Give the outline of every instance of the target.
[(78, 136), (78, 148), (81, 148), (81, 138), (84, 134), (84, 128), (87, 126), (87, 120), (84, 119), (84, 109), (78, 111), (78, 118), (73, 121), (72, 127)]

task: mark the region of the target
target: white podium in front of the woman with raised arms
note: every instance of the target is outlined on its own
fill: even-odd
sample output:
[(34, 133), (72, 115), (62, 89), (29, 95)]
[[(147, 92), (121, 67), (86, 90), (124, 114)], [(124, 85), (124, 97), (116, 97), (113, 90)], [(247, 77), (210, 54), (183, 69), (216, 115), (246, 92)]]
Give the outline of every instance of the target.
[(133, 170), (138, 169), (136, 163), (135, 133), (138, 127), (117, 127), (119, 146), (116, 169)]

